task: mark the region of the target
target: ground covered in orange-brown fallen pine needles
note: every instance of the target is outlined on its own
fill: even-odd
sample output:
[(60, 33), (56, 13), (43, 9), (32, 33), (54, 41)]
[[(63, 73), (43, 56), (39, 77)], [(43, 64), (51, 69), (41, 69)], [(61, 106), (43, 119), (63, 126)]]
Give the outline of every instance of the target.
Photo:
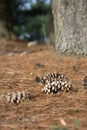
[[(75, 91), (43, 94), (34, 79), (48, 72), (63, 73)], [(70, 130), (76, 130), (76, 125), (78, 130), (87, 130), (85, 75), (87, 57), (60, 55), (44, 44), (28, 47), (21, 41), (0, 40), (0, 130), (55, 130), (54, 126), (61, 127), (61, 119)], [(23, 90), (32, 98), (18, 105), (2, 96)]]

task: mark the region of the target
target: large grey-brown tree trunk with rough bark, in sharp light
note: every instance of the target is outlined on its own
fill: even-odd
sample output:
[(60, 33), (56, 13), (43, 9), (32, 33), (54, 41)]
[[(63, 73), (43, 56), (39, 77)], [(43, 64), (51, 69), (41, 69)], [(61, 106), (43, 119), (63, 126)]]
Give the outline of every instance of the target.
[(87, 0), (52, 0), (55, 48), (87, 55)]

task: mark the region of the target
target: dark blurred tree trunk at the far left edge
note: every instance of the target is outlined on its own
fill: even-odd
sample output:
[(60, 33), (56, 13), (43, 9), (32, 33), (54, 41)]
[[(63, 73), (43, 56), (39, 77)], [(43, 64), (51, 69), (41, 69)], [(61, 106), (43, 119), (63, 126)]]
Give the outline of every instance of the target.
[(0, 38), (11, 39), (10, 0), (0, 0)]

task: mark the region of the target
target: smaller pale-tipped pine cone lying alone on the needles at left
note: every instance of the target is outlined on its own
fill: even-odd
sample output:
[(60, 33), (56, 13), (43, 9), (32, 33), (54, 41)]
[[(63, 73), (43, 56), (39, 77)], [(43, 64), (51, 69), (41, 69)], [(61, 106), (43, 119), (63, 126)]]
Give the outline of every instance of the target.
[(5, 97), (8, 103), (18, 104), (22, 100), (29, 98), (29, 94), (26, 93), (25, 91), (23, 92), (18, 91), (18, 92), (8, 93)]

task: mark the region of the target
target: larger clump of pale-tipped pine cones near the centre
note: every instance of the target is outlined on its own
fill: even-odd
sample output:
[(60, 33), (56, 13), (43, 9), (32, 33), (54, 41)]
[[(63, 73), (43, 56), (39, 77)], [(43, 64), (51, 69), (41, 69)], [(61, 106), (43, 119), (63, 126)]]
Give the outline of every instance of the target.
[(46, 94), (68, 92), (72, 89), (71, 83), (61, 73), (48, 73), (45, 77), (36, 77), (35, 81), (44, 85), (42, 92)]

